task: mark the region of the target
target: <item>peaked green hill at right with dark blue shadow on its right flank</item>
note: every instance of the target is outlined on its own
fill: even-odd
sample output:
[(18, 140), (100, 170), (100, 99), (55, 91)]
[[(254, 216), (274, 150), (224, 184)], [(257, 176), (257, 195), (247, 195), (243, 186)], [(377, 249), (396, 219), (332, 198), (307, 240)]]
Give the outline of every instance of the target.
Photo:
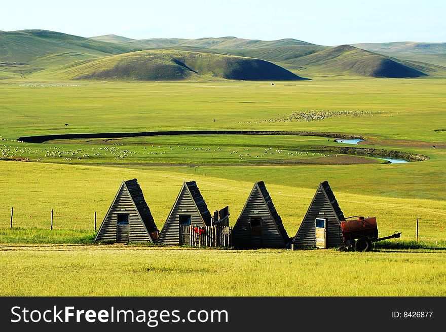
[(426, 73), (383, 55), (341, 45), (319, 51), (287, 63), (299, 65), (306, 72), (336, 73), (377, 78), (414, 78)]

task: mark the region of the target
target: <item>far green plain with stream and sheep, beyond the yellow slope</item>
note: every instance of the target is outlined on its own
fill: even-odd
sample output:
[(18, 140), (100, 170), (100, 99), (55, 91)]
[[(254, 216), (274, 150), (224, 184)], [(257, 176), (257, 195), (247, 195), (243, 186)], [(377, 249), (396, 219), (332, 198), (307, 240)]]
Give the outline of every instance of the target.
[[(122, 160), (96, 158), (91, 149), (94, 142), (18, 144), (2, 142), (20, 150), (41, 150), (44, 162), (105, 163), (125, 167), (149, 167), (145, 163), (178, 163), (201, 165), (200, 172), (220, 178), (265, 179), (268, 183), (293, 187), (315, 188), (320, 180), (328, 179), (336, 192), (368, 193), (394, 198), (442, 200), (445, 181), (444, 127), (446, 102), (441, 79), (350, 79), (339, 81), (278, 82), (189, 82), (189, 83), (4, 83), (0, 96), (0, 134), (7, 139), (50, 133), (94, 133), (116, 131), (150, 131), (181, 129), (263, 129), (307, 130), (363, 135), (364, 147), (383, 147), (427, 155), (430, 160), (404, 165), (277, 165), (250, 167), (253, 158), (236, 159), (230, 155), (245, 147), (282, 149), (308, 145), (335, 145), (324, 139), (288, 140), (286, 137), (164, 137), (128, 139), (126, 145), (104, 145), (121, 150), (142, 152), (143, 147), (163, 146), (166, 154), (157, 156), (131, 155)], [(53, 86), (54, 85), (54, 86)], [(296, 110), (366, 110), (364, 116), (342, 116), (320, 121), (276, 121)], [(215, 120), (215, 121), (214, 121)], [(68, 126), (64, 126), (68, 123)], [(220, 141), (218, 141), (220, 139)], [(291, 139), (300, 139), (295, 137)], [(202, 142), (200, 142), (202, 140)], [(189, 141), (189, 143), (188, 143)], [(143, 143), (148, 146), (143, 146)], [(113, 144), (114, 142), (109, 142)], [(169, 145), (181, 145), (175, 151)], [(182, 154), (185, 145), (189, 150)], [(94, 146), (93, 146), (94, 145)], [(211, 152), (220, 145), (228, 147), (226, 160), (215, 161)], [(436, 145), (437, 149), (432, 149)], [(80, 149), (82, 154), (44, 158), (47, 147)], [(67, 147), (71, 146), (71, 147)], [(202, 147), (205, 151), (191, 151)], [(231, 151), (231, 149), (234, 149)], [(88, 150), (88, 151), (87, 151)], [(154, 152), (158, 151), (154, 147)], [(180, 153), (181, 150), (181, 153)], [(214, 150), (214, 151), (212, 151)], [(223, 149), (222, 149), (223, 150)], [(91, 158), (78, 160), (87, 153)], [(52, 155), (52, 154), (51, 154)], [(205, 158), (203, 156), (207, 155)], [(17, 156), (16, 156), (17, 157)], [(20, 157), (20, 156), (18, 156)], [(103, 157), (103, 154), (102, 154)], [(150, 158), (148, 158), (150, 157)], [(246, 156), (244, 156), (246, 157)], [(277, 161), (276, 154), (269, 157)], [(313, 157), (313, 156), (312, 156)], [(320, 157), (320, 156), (319, 156)], [(217, 157), (215, 157), (217, 158)], [(288, 158), (288, 157), (287, 157)], [(334, 159), (334, 157), (330, 157)], [(280, 156), (279, 159), (286, 159)], [(293, 158), (296, 160), (296, 158)], [(321, 162), (330, 164), (330, 161)], [(139, 165), (138, 165), (139, 164)], [(204, 164), (204, 165), (202, 165)], [(210, 164), (207, 166), (207, 164)], [(212, 164), (231, 164), (221, 167)], [(243, 166), (243, 167), (242, 167)], [(247, 166), (247, 167), (244, 167)], [(166, 165), (171, 167), (171, 165)], [(165, 169), (165, 168), (163, 168)], [(176, 167), (175, 172), (195, 176), (197, 168)], [(191, 175), (192, 174), (192, 175)], [(189, 175), (188, 175), (189, 176)]]

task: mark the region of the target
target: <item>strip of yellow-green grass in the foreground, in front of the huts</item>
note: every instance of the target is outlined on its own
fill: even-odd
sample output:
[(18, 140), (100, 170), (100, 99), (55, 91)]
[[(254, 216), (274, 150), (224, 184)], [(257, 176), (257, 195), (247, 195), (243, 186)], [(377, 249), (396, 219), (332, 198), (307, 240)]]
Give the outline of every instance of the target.
[(2, 246), (0, 269), (15, 296), (446, 295), (436, 251)]

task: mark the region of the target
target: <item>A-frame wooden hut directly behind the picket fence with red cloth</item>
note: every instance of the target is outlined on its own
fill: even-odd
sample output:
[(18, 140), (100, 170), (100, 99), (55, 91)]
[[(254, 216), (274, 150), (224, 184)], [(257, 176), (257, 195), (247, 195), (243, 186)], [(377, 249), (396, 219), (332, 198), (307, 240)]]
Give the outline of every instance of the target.
[(189, 244), (192, 226), (211, 226), (212, 217), (195, 181), (184, 182), (161, 230), (158, 243)]

